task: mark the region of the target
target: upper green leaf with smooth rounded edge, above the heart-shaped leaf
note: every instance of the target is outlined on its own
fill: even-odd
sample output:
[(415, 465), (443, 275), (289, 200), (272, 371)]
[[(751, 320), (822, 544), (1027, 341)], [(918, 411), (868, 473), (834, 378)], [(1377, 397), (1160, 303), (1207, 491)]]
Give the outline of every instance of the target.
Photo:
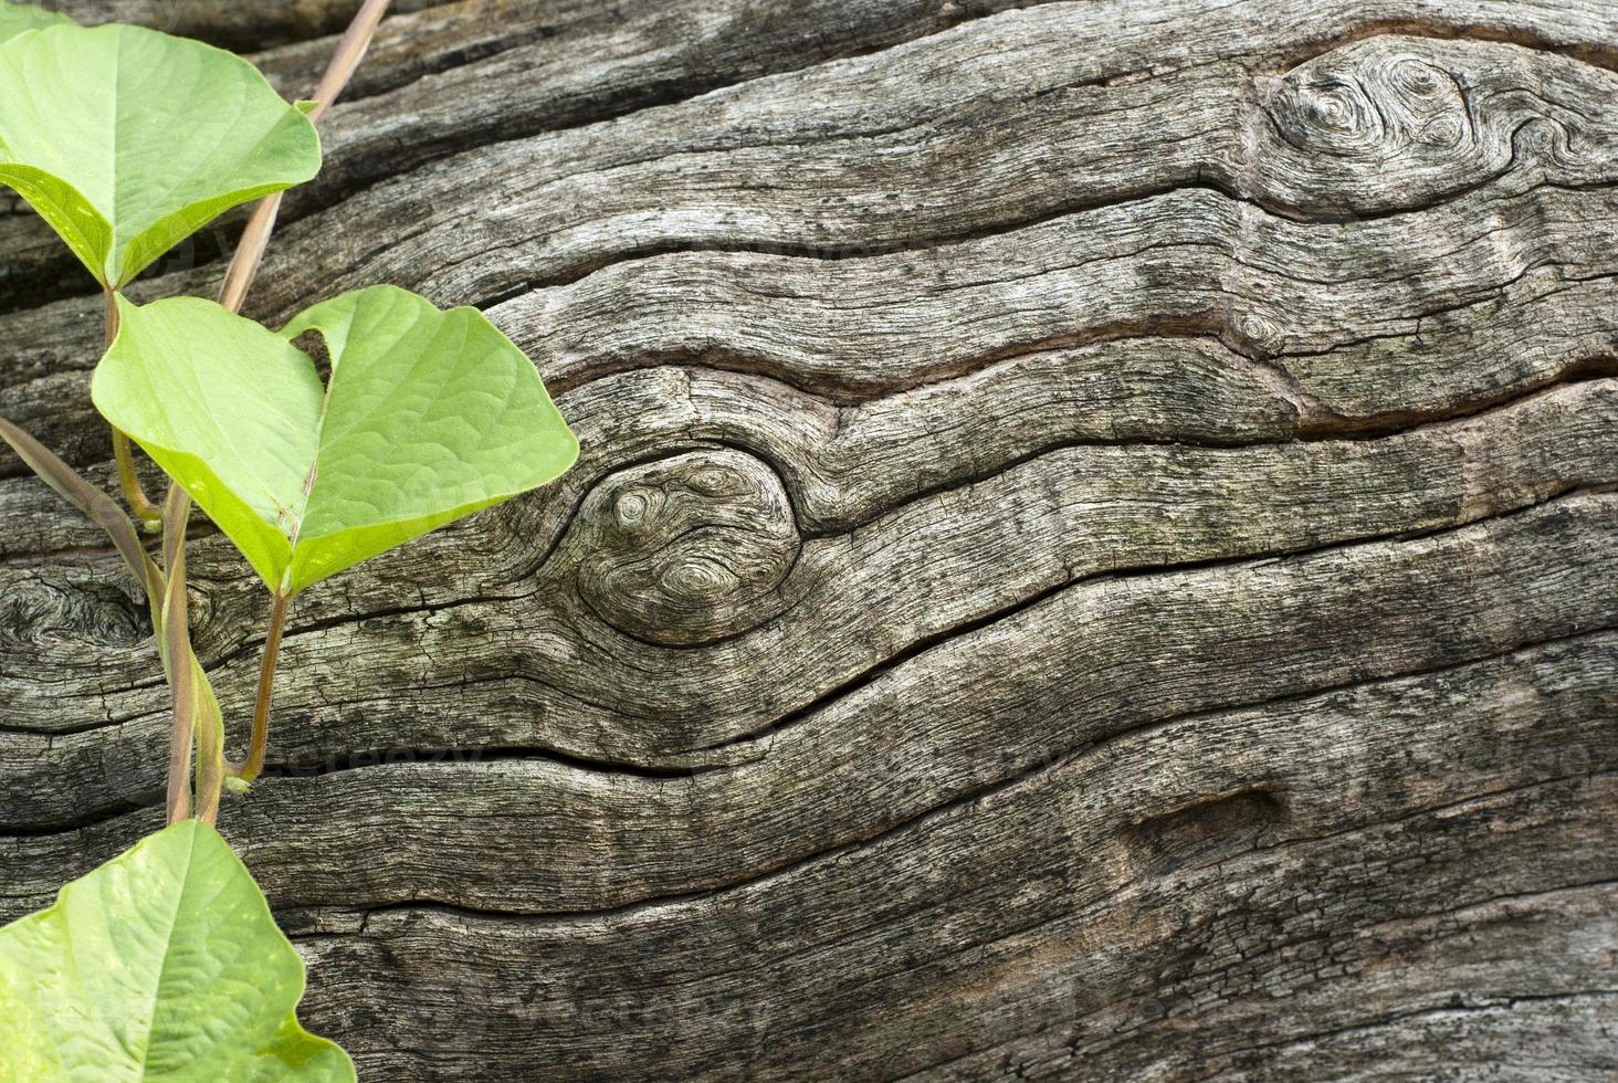
[(118, 288), (236, 204), (320, 168), (314, 125), (259, 70), (139, 26), (0, 44), (0, 185)]

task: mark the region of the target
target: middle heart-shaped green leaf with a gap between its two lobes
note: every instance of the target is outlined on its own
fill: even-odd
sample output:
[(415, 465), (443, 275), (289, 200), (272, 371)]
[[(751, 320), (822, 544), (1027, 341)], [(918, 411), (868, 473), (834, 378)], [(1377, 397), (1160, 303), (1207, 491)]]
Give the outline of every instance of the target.
[[(275, 335), (199, 298), (118, 306), (95, 406), (272, 591), (298, 592), (578, 458), (534, 364), (477, 309), (371, 287)], [(332, 358), (327, 387), (291, 345), (311, 330)]]

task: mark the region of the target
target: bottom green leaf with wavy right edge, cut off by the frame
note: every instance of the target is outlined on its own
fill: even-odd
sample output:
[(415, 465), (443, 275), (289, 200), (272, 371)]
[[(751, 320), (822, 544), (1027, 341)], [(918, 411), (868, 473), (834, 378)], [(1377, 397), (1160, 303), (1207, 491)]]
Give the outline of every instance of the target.
[(354, 1080), (303, 991), (246, 866), (183, 821), (0, 929), (0, 1078)]

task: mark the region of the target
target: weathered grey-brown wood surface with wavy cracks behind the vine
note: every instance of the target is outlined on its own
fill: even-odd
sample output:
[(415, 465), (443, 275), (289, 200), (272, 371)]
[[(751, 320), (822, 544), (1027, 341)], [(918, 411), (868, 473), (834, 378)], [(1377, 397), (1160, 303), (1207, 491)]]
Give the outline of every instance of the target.
[[(299, 92), (353, 3), (68, 6)], [(1618, 1072), (1618, 8), (404, 6), (251, 308), (479, 304), (584, 455), (311, 591), (225, 809), (364, 1077)], [(99, 301), (0, 275), (107, 478)], [(5, 919), (157, 824), (165, 699), (0, 515)]]

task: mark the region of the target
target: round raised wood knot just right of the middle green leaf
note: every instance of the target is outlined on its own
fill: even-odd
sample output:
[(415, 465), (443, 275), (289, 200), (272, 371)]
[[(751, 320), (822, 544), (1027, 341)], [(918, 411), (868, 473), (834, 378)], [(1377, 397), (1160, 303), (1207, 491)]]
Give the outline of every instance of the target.
[(670, 646), (746, 631), (781, 609), (801, 539), (780, 478), (744, 452), (691, 452), (612, 476), (578, 528), (579, 592), (612, 626)]

